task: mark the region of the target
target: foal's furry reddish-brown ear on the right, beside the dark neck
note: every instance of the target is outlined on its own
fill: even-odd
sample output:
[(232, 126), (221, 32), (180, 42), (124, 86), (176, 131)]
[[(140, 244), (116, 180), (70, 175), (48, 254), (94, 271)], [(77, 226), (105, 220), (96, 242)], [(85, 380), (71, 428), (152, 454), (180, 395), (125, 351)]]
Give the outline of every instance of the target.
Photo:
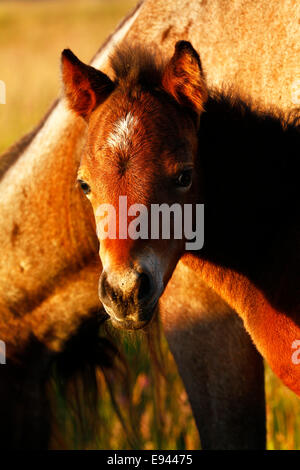
[(176, 43), (174, 55), (165, 68), (162, 85), (179, 104), (200, 116), (208, 93), (200, 57), (190, 42)]

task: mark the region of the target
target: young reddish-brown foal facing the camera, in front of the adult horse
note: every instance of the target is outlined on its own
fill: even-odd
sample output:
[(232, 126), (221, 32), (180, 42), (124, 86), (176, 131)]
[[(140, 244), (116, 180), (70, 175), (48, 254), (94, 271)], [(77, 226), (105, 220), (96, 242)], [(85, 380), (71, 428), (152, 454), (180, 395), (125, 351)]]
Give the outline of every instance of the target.
[[(148, 323), (183, 257), (300, 394), (297, 119), (283, 125), (241, 100), (209, 93), (200, 58), (185, 41), (166, 64), (126, 47), (111, 64), (113, 80), (71, 51), (62, 55), (69, 106), (89, 124), (79, 183), (96, 216), (100, 204), (116, 208), (117, 236), (100, 245), (99, 294), (113, 324)], [(185, 240), (175, 237), (124, 239), (117, 202), (124, 195), (128, 206), (147, 208), (204, 203), (204, 248), (187, 253)]]

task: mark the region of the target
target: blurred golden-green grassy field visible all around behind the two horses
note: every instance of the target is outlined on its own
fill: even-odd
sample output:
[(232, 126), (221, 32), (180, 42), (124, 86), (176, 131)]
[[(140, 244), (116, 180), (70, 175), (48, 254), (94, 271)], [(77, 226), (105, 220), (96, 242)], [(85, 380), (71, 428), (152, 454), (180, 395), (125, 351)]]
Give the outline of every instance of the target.
[[(0, 152), (28, 132), (60, 93), (60, 52), (70, 47), (88, 62), (107, 35), (135, 0), (45, 0), (0, 3), (0, 80), (6, 83), (6, 104), (0, 104)], [(195, 449), (199, 438), (187, 396), (178, 377), (166, 342), (164, 356), (167, 382), (161, 386), (161, 412), (155, 405), (153, 374), (144, 341), (124, 340), (130, 364), (135, 364), (133, 400), (138, 446), (146, 449)], [(136, 361), (136, 357), (139, 361)], [(54, 447), (79, 448), (80, 431), (72, 413), (67, 412), (57, 384), (54, 406), (58, 410), (64, 442)], [(300, 449), (300, 401), (266, 367), (268, 448)], [(85, 448), (124, 449), (129, 444), (104, 391), (100, 409), (99, 438), (88, 440)], [(163, 423), (159, 424), (160, 417)]]

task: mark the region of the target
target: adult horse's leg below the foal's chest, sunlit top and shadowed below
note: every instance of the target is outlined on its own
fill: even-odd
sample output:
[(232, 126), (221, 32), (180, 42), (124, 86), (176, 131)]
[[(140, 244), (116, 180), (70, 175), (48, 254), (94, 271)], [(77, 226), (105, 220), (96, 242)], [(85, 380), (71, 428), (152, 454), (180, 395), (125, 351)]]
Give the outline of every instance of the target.
[(263, 362), (240, 318), (181, 263), (160, 315), (203, 449), (264, 448)]

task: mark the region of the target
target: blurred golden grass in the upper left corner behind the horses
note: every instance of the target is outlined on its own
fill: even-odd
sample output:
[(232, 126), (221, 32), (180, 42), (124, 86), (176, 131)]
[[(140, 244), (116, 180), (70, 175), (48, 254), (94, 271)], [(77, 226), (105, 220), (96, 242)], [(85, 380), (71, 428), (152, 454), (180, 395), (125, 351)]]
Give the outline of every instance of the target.
[(60, 53), (89, 62), (135, 0), (5, 1), (0, 4), (0, 153), (39, 122), (60, 93)]

